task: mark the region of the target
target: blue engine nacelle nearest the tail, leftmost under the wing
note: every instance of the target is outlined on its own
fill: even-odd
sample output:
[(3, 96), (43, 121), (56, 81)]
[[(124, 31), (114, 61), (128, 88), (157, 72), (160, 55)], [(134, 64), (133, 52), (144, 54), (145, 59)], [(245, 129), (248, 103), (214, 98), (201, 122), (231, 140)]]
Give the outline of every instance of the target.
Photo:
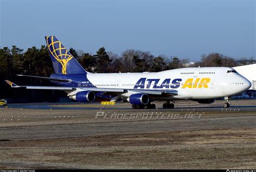
[(95, 101), (95, 93), (93, 91), (80, 91), (69, 98), (78, 102), (93, 102)]

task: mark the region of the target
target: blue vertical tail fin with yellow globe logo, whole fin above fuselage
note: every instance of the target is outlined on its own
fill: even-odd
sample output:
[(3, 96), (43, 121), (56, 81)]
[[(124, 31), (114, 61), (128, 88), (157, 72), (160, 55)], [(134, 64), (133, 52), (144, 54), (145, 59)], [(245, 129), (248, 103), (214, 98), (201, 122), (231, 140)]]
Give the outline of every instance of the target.
[(87, 73), (55, 36), (45, 37), (45, 40), (56, 74)]

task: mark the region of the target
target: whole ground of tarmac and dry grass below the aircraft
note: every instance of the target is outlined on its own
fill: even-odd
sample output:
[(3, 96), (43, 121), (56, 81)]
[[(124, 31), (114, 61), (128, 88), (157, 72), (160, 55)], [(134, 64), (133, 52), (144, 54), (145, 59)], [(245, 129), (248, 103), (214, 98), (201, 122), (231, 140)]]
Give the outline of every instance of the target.
[(0, 109), (0, 169), (255, 169), (256, 100), (221, 104), (9, 105)]

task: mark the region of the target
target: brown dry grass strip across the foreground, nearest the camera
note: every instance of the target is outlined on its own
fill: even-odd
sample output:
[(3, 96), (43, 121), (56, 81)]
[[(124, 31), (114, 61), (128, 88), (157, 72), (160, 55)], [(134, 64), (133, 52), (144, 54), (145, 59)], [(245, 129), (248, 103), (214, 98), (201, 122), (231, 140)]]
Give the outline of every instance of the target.
[(60, 162), (105, 169), (254, 168), (255, 135), (246, 129), (17, 140), (1, 142), (0, 153), (5, 163), (44, 162), (40, 168)]

